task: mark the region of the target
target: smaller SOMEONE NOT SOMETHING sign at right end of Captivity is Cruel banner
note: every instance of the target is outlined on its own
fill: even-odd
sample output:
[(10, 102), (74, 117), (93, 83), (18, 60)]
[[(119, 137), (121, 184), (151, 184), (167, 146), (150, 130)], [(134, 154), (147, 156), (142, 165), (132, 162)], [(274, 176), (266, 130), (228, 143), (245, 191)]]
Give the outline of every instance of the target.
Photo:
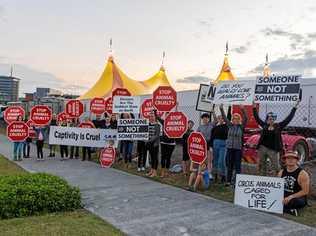
[(117, 123), (118, 140), (148, 140), (148, 120), (119, 119)]

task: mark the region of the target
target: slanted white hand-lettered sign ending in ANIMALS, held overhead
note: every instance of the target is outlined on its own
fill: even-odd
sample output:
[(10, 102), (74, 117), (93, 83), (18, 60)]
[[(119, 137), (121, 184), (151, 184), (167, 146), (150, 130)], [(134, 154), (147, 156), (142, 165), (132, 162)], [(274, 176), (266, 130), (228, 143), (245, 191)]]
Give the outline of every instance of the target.
[(214, 103), (251, 105), (255, 85), (255, 80), (221, 81), (216, 85)]

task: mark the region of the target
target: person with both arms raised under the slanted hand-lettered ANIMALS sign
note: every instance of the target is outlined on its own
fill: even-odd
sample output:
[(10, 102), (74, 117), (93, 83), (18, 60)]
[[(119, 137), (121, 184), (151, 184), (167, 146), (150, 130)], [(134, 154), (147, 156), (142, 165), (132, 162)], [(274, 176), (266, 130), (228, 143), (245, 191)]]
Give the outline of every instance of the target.
[(242, 118), (240, 114), (234, 113), (232, 115), (232, 121), (230, 121), (223, 109), (223, 104), (220, 105), (220, 111), (225, 123), (228, 125), (228, 133), (226, 140), (226, 162), (228, 166), (227, 170), (227, 183), (233, 184), (232, 176), (233, 171), (235, 174), (241, 173), (241, 159), (242, 159), (242, 148), (243, 148), (243, 137), (244, 129), (246, 127), (248, 117), (244, 107), (241, 105)]

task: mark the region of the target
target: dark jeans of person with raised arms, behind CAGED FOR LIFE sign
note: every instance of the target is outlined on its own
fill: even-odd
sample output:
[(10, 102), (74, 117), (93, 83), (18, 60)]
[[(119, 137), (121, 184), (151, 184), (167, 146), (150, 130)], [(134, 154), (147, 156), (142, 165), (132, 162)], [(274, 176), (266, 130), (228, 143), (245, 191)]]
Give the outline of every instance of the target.
[(227, 171), (228, 183), (235, 182), (235, 180), (233, 180), (234, 171), (235, 171), (235, 174), (241, 173), (241, 158), (242, 158), (242, 151), (240, 149), (233, 149), (233, 148), (227, 149), (226, 159), (227, 159), (227, 167), (228, 167), (228, 171)]

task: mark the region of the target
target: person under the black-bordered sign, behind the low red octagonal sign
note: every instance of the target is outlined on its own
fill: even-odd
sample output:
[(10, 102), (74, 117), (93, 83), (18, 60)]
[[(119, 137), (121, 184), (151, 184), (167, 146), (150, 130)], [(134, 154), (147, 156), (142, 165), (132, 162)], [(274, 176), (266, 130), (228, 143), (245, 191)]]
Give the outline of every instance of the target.
[(201, 125), (198, 127), (197, 131), (201, 132), (206, 140), (207, 143), (207, 167), (210, 174), (210, 179), (212, 179), (212, 161), (213, 161), (213, 154), (211, 153), (210, 149), (210, 141), (212, 130), (214, 128), (215, 122), (210, 121), (210, 115), (208, 113), (204, 113), (201, 116)]

